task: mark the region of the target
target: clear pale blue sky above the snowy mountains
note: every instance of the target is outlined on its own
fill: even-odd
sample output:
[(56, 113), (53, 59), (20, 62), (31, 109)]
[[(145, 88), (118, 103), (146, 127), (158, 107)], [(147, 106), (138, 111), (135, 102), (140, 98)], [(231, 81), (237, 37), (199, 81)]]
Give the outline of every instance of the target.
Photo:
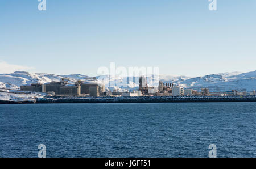
[(256, 0), (0, 1), (0, 73), (97, 75), (110, 62), (200, 76), (255, 71)]

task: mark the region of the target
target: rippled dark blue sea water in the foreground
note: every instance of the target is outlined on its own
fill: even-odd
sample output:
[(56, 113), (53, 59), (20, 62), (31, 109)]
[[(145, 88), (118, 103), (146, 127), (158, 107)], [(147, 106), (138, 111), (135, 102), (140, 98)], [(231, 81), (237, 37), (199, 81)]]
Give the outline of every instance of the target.
[(256, 103), (0, 105), (0, 157), (256, 157)]

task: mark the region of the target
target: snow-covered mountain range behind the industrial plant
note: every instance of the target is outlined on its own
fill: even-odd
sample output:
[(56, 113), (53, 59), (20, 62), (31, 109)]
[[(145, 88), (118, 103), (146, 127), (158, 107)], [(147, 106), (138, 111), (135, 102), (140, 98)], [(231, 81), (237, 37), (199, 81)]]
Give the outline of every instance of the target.
[[(139, 77), (109, 77), (108, 75), (103, 76), (104, 78), (110, 79), (112, 86), (110, 90), (117, 89), (137, 89), (139, 86)], [(71, 83), (74, 83), (78, 79), (90, 78), (82, 74), (71, 74), (71, 75), (54, 75), (44, 73), (28, 73), (26, 71), (15, 71), (11, 74), (0, 74), (0, 88), (12, 88), (19, 89), (20, 86), (31, 83), (47, 83), (51, 81), (60, 81), (61, 78), (68, 78)], [(96, 77), (102, 79), (101, 77)], [(155, 86), (154, 82), (149, 80), (149, 86)], [(203, 87), (208, 87), (210, 91), (253, 91), (256, 90), (256, 71), (248, 73), (220, 73), (205, 75), (203, 77), (186, 77), (186, 76), (171, 76), (171, 75), (160, 75), (160, 81), (164, 83), (175, 83), (185, 88), (193, 88), (200, 90)], [(128, 82), (128, 87), (121, 87), (123, 83)], [(108, 83), (106, 84), (108, 86)]]

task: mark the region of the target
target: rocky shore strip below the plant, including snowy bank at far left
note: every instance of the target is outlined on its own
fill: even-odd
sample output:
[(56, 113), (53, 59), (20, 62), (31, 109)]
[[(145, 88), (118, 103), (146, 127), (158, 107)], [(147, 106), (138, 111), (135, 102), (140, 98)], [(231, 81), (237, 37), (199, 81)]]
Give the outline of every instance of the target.
[(18, 103), (187, 103), (256, 102), (256, 96), (151, 96), (151, 97), (47, 97), (36, 94), (0, 93), (0, 104)]

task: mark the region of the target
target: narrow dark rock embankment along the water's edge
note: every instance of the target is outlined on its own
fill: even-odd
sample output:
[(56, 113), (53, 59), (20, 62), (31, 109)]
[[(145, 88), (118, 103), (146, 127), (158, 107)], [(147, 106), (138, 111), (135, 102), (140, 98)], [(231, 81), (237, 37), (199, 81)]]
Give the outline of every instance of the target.
[(155, 96), (127, 98), (49, 97), (36, 100), (0, 100), (0, 104), (53, 104), (53, 103), (209, 103), (256, 102), (256, 96)]

